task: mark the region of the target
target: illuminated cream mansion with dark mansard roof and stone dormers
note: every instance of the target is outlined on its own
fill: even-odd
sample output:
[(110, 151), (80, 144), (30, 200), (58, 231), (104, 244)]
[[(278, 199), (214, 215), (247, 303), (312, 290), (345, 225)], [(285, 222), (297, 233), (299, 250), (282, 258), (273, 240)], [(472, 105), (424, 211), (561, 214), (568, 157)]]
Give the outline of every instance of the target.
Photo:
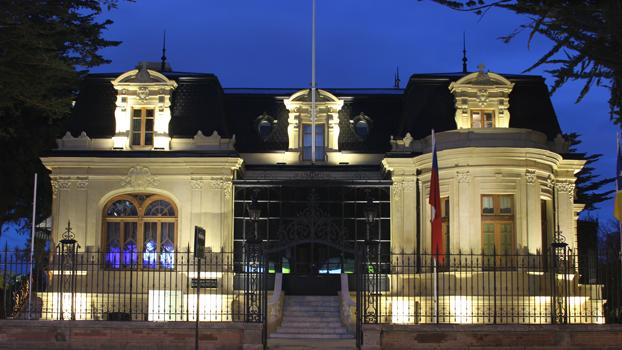
[[(497, 296), (491, 301), (474, 286), (488, 278), (487, 267), (511, 264), (500, 289), (512, 286), (524, 307), (547, 315), (533, 323), (551, 321), (554, 302), (545, 290), (555, 286), (540, 292), (534, 286), (546, 284), (551, 244), (577, 249), (582, 205), (574, 201), (575, 174), (584, 161), (568, 153), (543, 78), (482, 66), (415, 74), (404, 89), (320, 89), (315, 123), (310, 95), (309, 89), (226, 89), (211, 74), (159, 72), (146, 64), (89, 75), (66, 134), (42, 159), (52, 178), (54, 242), (71, 222), (86, 254), (105, 252), (95, 264), (103, 274), (170, 271), (183, 285), (192, 273), (183, 274), (178, 254), (195, 249), (194, 227), (203, 227), (207, 252), (231, 253), (235, 265), (216, 278), (220, 294), (231, 296), (216, 306), (222, 314), (243, 294), (234, 275), (247, 272), (236, 264), (249, 239), (263, 242), (265, 268), (284, 276), (285, 295), (343, 292), (338, 277), (357, 271), (353, 252), (373, 241), (376, 272), (386, 279), (377, 286), (384, 321), (438, 321), (438, 309), (446, 308), (446, 322), (487, 323), (482, 310)], [(446, 266), (434, 267), (432, 130), (446, 255)], [(404, 264), (404, 257), (413, 260)], [(439, 271), (471, 287), (454, 284), (439, 303), (436, 282), (434, 291), (425, 282)], [(567, 296), (579, 298), (566, 302), (581, 315), (589, 309), (590, 317), (574, 322), (602, 322), (598, 287), (580, 285), (575, 272), (563, 275), (572, 289)], [(172, 298), (158, 297), (162, 288), (147, 288), (150, 309), (153, 300)], [(172, 308), (192, 313), (183, 302), (190, 292), (180, 288)], [(91, 294), (80, 302), (85, 310), (105, 293)], [(46, 302), (61, 299), (62, 293)], [(57, 312), (52, 318), (64, 312), (49, 308)], [(522, 311), (512, 312), (507, 322)]]

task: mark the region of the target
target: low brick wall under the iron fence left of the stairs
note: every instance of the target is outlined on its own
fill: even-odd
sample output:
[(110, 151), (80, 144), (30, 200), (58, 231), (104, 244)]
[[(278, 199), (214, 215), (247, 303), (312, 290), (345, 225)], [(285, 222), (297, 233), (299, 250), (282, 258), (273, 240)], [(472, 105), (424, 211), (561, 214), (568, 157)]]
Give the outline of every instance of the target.
[[(202, 322), (200, 349), (260, 350), (261, 324)], [(194, 350), (194, 322), (0, 320), (0, 349)]]

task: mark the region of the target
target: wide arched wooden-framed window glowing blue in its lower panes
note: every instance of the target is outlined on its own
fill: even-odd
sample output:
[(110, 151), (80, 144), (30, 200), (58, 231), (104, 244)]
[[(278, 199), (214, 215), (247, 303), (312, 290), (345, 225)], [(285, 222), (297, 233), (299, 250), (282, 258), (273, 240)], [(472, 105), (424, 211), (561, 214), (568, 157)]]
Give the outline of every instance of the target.
[(104, 207), (103, 226), (108, 267), (175, 267), (177, 209), (168, 199), (149, 194), (115, 197)]

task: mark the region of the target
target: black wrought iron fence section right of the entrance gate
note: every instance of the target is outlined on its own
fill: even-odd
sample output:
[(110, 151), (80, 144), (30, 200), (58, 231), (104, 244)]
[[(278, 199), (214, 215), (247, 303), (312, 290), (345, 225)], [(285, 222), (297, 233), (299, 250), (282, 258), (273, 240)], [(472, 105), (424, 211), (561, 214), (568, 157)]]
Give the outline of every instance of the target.
[(582, 268), (584, 275), (577, 261), (569, 249), (537, 255), (371, 254), (362, 269), (362, 322), (622, 322), (620, 261), (591, 259), (596, 266)]

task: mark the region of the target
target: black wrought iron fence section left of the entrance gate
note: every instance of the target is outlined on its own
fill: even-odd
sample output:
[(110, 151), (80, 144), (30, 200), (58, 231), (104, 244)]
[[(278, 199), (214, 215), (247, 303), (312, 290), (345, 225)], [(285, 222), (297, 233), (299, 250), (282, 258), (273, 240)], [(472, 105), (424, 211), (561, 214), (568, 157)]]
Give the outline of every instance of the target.
[[(77, 248), (77, 247), (76, 247)], [(2, 317), (28, 318), (27, 254), (0, 251)], [(64, 250), (36, 259), (30, 318), (260, 322), (263, 285), (233, 253)], [(261, 287), (261, 288), (260, 288)], [(26, 289), (27, 291), (27, 285)], [(21, 292), (18, 292), (21, 291)], [(26, 295), (27, 296), (27, 295)]]

